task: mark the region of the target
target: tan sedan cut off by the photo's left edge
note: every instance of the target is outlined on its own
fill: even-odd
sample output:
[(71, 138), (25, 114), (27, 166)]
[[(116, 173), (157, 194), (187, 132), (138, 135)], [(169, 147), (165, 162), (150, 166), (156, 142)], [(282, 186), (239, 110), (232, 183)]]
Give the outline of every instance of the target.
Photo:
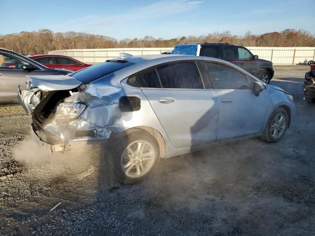
[(69, 70), (55, 70), (18, 53), (0, 48), (0, 103), (16, 103), (17, 89), (26, 89), (26, 75), (66, 75)]

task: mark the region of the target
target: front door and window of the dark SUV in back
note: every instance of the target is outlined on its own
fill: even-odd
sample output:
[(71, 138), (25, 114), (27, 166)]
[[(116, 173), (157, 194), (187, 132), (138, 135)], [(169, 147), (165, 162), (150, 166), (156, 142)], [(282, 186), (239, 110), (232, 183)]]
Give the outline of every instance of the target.
[(234, 64), (256, 75), (258, 71), (258, 63), (253, 59), (252, 53), (244, 47), (236, 47), (237, 60), (233, 61)]

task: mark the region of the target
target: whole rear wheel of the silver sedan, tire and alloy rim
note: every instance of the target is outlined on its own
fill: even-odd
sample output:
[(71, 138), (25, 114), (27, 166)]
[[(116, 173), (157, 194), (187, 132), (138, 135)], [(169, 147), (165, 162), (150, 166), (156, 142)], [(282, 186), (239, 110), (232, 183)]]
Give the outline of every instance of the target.
[(110, 150), (114, 174), (123, 183), (136, 183), (149, 177), (158, 166), (159, 148), (145, 131), (133, 131), (117, 140)]

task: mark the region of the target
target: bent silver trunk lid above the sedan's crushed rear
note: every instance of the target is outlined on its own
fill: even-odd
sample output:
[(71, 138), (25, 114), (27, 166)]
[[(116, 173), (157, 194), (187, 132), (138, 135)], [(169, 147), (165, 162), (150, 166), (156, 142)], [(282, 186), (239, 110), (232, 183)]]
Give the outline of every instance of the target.
[(39, 88), (43, 91), (74, 89), (82, 84), (81, 81), (67, 75), (26, 76), (28, 89)]

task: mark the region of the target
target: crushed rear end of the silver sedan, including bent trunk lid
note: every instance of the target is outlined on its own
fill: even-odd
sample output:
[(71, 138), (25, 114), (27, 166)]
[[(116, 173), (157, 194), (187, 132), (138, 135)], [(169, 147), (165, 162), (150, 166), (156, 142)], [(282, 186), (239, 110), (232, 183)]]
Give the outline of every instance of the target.
[[(81, 118), (88, 104), (67, 101), (86, 87), (71, 76), (28, 76), (27, 90), (18, 89), (18, 100), (26, 113), (32, 115), (32, 137), (52, 152), (63, 152), (74, 145), (105, 142), (110, 135), (100, 127)], [(71, 99), (70, 99), (71, 100)]]

